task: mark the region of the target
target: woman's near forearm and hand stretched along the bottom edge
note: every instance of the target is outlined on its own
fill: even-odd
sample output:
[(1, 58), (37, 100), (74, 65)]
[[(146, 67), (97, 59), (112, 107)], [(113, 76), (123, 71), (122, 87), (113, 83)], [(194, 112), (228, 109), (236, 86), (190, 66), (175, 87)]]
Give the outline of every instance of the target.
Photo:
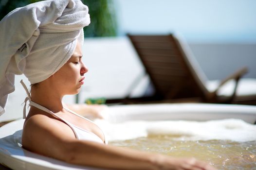
[(117, 170), (215, 170), (195, 158), (174, 158), (82, 140), (69, 146), (66, 152), (70, 155), (65, 161), (73, 164)]

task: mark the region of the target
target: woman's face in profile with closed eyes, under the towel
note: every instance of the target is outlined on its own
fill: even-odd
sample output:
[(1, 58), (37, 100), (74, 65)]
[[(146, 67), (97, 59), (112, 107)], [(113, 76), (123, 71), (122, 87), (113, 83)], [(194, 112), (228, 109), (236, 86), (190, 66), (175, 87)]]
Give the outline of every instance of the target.
[(71, 58), (54, 75), (51, 76), (52, 85), (60, 95), (77, 94), (84, 84), (84, 74), (88, 68), (82, 62), (82, 49), (79, 42)]

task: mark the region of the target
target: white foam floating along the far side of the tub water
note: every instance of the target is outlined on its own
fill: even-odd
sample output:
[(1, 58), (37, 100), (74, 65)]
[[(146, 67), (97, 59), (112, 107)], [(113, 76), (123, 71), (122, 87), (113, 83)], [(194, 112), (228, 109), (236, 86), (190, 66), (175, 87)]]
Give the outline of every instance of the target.
[(95, 120), (105, 130), (110, 141), (137, 137), (167, 135), (175, 140), (232, 140), (237, 142), (256, 140), (256, 125), (240, 119), (209, 121), (127, 121), (110, 123)]

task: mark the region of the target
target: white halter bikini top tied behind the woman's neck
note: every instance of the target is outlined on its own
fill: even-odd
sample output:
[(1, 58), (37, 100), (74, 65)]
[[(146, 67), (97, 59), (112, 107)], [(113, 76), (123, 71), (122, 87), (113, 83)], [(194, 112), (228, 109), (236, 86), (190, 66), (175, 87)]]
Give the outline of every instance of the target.
[[(72, 123), (70, 123), (69, 121), (67, 121), (67, 120), (65, 120), (65, 119), (63, 119), (63, 118), (61, 118), (61, 117), (59, 117), (59, 116), (56, 115), (54, 112), (52, 112), (51, 110), (47, 109), (46, 107), (41, 106), (41, 105), (37, 104), (36, 102), (31, 101), (31, 96), (30, 96), (30, 93), (29, 93), (29, 91), (28, 91), (26, 85), (23, 83), (22, 80), (20, 81), (20, 83), (21, 83), (21, 85), (24, 87), (24, 89), (25, 89), (25, 91), (26, 91), (26, 93), (27, 93), (27, 95), (28, 95), (28, 97), (26, 97), (26, 99), (25, 99), (25, 101), (24, 101), (25, 104), (24, 104), (24, 108), (23, 108), (23, 119), (26, 118), (26, 102), (29, 101), (29, 102), (30, 102), (29, 105), (32, 105), (32, 106), (34, 106), (34, 107), (37, 107), (38, 109), (43, 110), (43, 111), (45, 111), (46, 113), (49, 113), (50, 115), (52, 115), (52, 116), (54, 116), (54, 117), (56, 117), (56, 118), (62, 120), (63, 122), (65, 122), (65, 123), (73, 130), (74, 135), (75, 135), (75, 137), (76, 137), (77, 139), (79, 139), (79, 140), (90, 140), (90, 141), (94, 141), (94, 142), (99, 142), (99, 143), (108, 144), (108, 140), (106, 139), (106, 136), (105, 136), (105, 134), (104, 134), (104, 132), (103, 132), (102, 130), (101, 130), (101, 131), (103, 132), (104, 139), (105, 139), (104, 142), (103, 142), (102, 139), (101, 139), (99, 136), (97, 136), (96, 134), (94, 134), (94, 133), (92, 133), (92, 132), (90, 132), (90, 131), (87, 131), (87, 130), (85, 130), (85, 129), (82, 129), (82, 128), (80, 128), (80, 127), (77, 127), (77, 126), (75, 126), (75, 125), (73, 125)], [(86, 118), (84, 118), (84, 117), (78, 115), (77, 113), (73, 112), (72, 110), (70, 110), (70, 109), (68, 109), (68, 108), (65, 108), (65, 107), (64, 107), (64, 109), (67, 110), (68, 112), (70, 112), (70, 113), (72, 113), (72, 114), (74, 114), (74, 115), (76, 115), (76, 116), (82, 118), (82, 119), (86, 119)], [(90, 121), (91, 123), (95, 124), (95, 123), (94, 123), (93, 121), (91, 121), (90, 119), (86, 119), (86, 120), (88, 120), (88, 121)], [(96, 125), (96, 124), (95, 124), (95, 125)], [(97, 126), (97, 125), (96, 125), (96, 126)]]

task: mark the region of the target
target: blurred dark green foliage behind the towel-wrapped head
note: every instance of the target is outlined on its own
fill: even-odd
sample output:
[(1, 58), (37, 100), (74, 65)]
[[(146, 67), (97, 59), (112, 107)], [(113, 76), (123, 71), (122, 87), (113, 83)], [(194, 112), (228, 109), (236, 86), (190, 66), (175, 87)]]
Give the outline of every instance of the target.
[[(0, 19), (15, 8), (41, 0), (0, 0)], [(117, 22), (112, 0), (82, 0), (89, 7), (91, 24), (84, 28), (85, 37), (115, 36)]]

